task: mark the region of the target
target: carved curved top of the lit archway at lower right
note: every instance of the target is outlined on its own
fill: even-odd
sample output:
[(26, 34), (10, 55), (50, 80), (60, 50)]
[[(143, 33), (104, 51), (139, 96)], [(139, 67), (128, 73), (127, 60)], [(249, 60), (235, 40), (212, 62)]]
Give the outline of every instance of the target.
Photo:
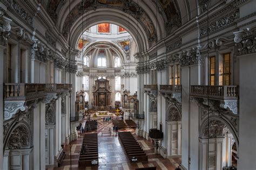
[[(208, 119), (206, 117), (203, 120), (203, 122), (201, 123), (200, 129), (199, 129), (199, 137), (200, 138), (207, 138), (207, 135), (205, 135), (205, 133), (208, 130), (207, 121), (208, 121)], [(210, 122), (210, 125), (212, 124), (212, 128), (210, 130), (210, 133), (212, 133), (211, 134), (212, 138), (223, 137), (223, 131), (226, 126), (231, 131), (231, 133), (234, 137), (235, 143), (237, 144), (237, 147), (239, 147), (238, 133), (235, 131), (234, 126), (228, 120), (226, 120), (224, 117), (211, 115), (209, 117), (209, 122)], [(215, 130), (216, 134), (214, 133), (214, 130)]]

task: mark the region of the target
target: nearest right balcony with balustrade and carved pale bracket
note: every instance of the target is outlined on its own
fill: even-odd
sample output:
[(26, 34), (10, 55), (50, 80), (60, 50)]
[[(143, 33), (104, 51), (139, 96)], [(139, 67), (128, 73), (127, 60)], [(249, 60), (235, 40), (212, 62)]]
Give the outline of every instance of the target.
[(238, 86), (191, 86), (191, 97), (220, 101), (220, 107), (238, 114)]

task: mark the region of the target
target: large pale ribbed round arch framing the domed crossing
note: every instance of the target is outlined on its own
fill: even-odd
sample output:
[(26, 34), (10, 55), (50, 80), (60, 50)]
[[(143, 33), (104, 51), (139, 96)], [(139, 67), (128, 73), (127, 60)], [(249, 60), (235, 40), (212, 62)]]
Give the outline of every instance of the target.
[(145, 51), (150, 47), (150, 37), (147, 35), (143, 26), (140, 23), (137, 23), (136, 19), (132, 17), (128, 18), (128, 15), (120, 10), (111, 9), (110, 11), (110, 9), (100, 9), (97, 11), (90, 11), (89, 15), (84, 15), (84, 20), (88, 17), (90, 17), (90, 19), (87, 21), (87, 24), (84, 23), (84, 30), (82, 30), (82, 16), (80, 16), (76, 22), (73, 23), (70, 38), (72, 48), (76, 48), (76, 42), (85, 30), (100, 23), (110, 23), (122, 26), (131, 34), (131, 37), (138, 46), (138, 52)]

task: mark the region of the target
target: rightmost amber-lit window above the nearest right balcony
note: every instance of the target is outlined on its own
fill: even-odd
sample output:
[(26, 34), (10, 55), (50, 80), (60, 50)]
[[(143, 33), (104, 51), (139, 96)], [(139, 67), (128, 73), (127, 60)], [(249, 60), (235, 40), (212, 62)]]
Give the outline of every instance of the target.
[(219, 85), (228, 86), (230, 82), (230, 53), (224, 54), (223, 61), (219, 64)]

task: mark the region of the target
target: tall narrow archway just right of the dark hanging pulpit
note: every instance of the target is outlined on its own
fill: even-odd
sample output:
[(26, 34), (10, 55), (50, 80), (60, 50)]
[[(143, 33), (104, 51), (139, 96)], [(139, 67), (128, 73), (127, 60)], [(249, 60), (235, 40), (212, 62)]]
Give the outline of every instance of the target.
[(166, 112), (167, 157), (181, 155), (181, 112), (176, 105), (170, 105)]

